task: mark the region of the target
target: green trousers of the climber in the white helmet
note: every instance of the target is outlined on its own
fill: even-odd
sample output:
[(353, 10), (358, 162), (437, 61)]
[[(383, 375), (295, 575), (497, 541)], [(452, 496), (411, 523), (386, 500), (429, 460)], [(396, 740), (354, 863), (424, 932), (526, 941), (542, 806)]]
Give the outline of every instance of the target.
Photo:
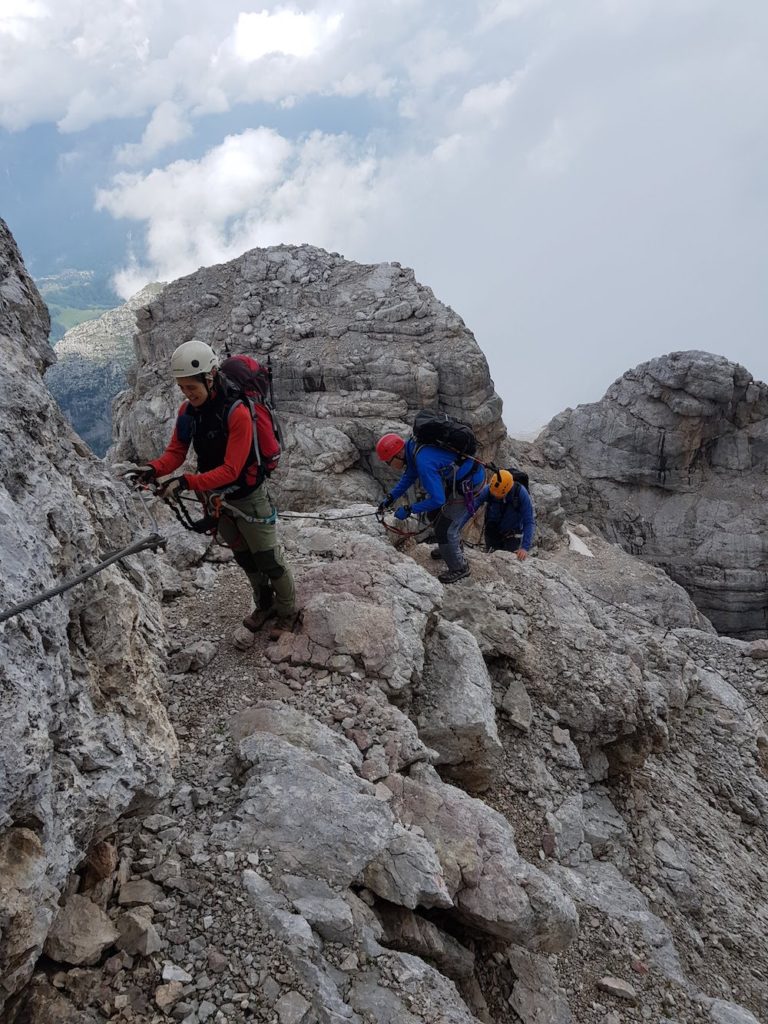
[[(260, 484), (247, 498), (227, 503), (251, 519), (268, 519), (274, 509), (266, 483)], [(271, 606), (280, 618), (296, 610), (296, 587), (293, 574), (278, 543), (273, 522), (248, 522), (223, 509), (218, 532), (234, 553), (234, 560), (248, 577), (257, 608), (263, 608), (271, 598)]]

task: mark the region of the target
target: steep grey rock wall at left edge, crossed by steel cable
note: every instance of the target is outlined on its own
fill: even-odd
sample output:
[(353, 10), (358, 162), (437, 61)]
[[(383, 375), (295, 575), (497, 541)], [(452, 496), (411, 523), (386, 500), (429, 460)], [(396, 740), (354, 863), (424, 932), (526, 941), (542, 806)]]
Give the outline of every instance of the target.
[[(42, 382), (48, 315), (0, 221), (0, 607), (60, 584), (133, 539), (127, 497)], [(126, 559), (0, 625), (0, 1013), (29, 978), (94, 834), (170, 780), (159, 700), (162, 617)]]

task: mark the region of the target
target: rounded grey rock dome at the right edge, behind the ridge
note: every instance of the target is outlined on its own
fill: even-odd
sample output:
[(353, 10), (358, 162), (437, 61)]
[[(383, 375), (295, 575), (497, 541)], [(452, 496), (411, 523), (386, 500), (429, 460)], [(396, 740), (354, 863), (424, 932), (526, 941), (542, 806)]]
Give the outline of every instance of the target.
[(673, 352), (567, 410), (532, 449), (566, 509), (662, 566), (722, 633), (768, 627), (768, 386), (722, 356)]

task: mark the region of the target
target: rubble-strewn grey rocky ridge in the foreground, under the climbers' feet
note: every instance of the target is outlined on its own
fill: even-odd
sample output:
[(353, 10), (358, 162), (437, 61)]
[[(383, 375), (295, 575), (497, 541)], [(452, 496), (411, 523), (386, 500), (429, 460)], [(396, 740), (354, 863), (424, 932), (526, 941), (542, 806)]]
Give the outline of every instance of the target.
[(224, 554), (166, 573), (176, 785), (110, 839), (118, 938), (39, 975), (33, 1019), (761, 1019), (762, 649), (581, 526), (454, 588), (373, 520), (283, 529), (276, 644), (230, 646)]

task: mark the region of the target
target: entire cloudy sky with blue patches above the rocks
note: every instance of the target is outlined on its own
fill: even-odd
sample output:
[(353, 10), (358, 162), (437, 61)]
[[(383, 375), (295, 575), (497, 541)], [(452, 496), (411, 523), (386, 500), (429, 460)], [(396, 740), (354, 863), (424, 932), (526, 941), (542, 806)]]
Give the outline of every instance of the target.
[(766, 0), (0, 0), (0, 214), (128, 296), (397, 260), (514, 430), (702, 348), (768, 378)]

